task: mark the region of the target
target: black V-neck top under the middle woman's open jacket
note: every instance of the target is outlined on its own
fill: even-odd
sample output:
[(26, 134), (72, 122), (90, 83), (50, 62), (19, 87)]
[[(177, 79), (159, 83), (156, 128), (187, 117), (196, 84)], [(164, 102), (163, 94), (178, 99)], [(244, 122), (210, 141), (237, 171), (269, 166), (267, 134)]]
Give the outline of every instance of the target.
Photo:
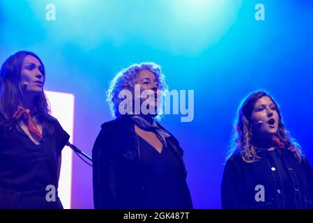
[(159, 153), (139, 136), (140, 164), (144, 174), (146, 208), (181, 208), (179, 194), (184, 178), (171, 148)]

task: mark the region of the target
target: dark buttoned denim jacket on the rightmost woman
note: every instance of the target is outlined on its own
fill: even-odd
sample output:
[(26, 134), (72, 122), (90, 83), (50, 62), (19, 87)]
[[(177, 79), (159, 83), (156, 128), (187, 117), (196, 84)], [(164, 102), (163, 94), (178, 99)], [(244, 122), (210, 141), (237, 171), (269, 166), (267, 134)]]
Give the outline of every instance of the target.
[[(278, 148), (280, 149), (280, 148)], [(284, 208), (282, 177), (268, 151), (259, 151), (259, 161), (247, 163), (235, 154), (227, 160), (222, 178), (222, 208)], [(282, 149), (282, 161), (291, 177), (296, 208), (313, 208), (313, 168), (306, 157)], [(264, 200), (256, 194), (264, 190)]]

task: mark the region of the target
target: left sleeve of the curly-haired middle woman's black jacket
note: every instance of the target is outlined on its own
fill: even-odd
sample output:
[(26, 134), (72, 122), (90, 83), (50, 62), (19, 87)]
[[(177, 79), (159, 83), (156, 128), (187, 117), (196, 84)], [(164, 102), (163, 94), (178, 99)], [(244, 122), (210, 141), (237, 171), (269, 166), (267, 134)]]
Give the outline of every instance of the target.
[[(111, 136), (111, 137), (110, 137)], [(96, 209), (116, 208), (116, 162), (109, 148), (112, 132), (102, 128), (93, 145), (93, 203)]]

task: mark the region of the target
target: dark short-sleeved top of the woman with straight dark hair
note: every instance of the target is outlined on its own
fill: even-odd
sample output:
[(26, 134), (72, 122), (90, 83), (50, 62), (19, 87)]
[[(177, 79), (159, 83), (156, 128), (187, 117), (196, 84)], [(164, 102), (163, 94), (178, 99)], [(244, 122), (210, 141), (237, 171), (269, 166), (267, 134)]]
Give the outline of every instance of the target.
[(58, 157), (69, 139), (60, 123), (53, 119), (54, 133), (43, 129), (43, 140), (36, 145), (19, 125), (0, 125), (0, 207), (62, 208), (47, 202), (47, 185), (58, 188)]

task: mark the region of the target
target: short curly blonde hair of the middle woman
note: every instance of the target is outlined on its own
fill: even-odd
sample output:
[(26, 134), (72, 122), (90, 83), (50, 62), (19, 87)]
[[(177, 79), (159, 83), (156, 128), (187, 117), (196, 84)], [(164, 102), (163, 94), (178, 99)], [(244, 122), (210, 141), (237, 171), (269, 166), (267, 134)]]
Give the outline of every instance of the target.
[[(142, 70), (149, 70), (155, 75), (155, 78), (158, 80), (158, 90), (162, 90), (161, 98), (165, 97), (168, 87), (165, 82), (165, 75), (161, 71), (161, 67), (153, 62), (134, 63), (128, 68), (119, 71), (109, 84), (109, 89), (107, 90), (107, 102), (109, 103), (113, 118), (122, 116), (119, 112), (119, 105), (124, 99), (119, 98), (119, 93), (122, 90), (129, 90), (134, 94), (135, 84), (138, 81), (139, 72)], [(160, 107), (162, 107), (162, 105), (158, 106), (157, 116), (155, 116), (158, 120), (162, 118), (163, 114)]]

